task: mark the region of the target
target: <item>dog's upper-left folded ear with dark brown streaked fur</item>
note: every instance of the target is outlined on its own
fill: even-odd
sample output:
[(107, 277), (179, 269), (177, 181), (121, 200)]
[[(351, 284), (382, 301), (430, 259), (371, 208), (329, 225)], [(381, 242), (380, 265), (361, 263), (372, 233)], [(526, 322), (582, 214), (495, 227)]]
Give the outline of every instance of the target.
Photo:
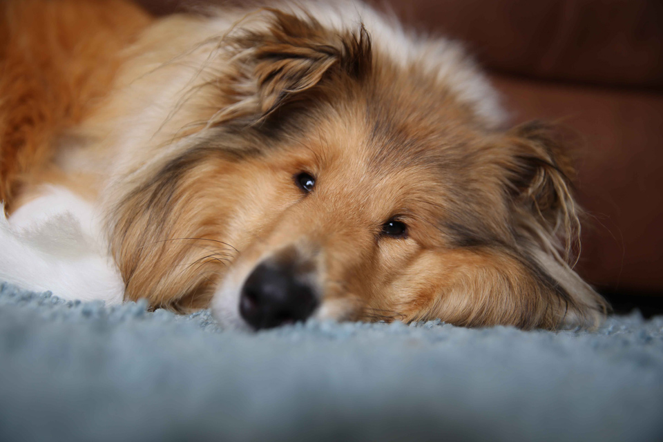
[[(265, 117), (333, 75), (361, 77), (371, 66), (371, 42), (356, 32), (325, 28), (313, 17), (267, 8), (266, 21), (232, 37), (229, 96), (251, 102)], [(265, 17), (262, 17), (263, 19)]]

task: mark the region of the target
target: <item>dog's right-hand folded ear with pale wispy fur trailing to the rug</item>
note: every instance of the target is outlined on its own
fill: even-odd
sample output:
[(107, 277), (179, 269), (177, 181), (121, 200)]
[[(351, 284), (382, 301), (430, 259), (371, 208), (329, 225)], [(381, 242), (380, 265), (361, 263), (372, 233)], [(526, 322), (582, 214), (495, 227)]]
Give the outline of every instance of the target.
[[(609, 310), (573, 270), (580, 251), (580, 209), (572, 194), (575, 171), (564, 138), (552, 126), (530, 122), (509, 131), (507, 180), (517, 242), (539, 280), (559, 287), (568, 325), (597, 325)], [(561, 316), (561, 315), (559, 315)]]

